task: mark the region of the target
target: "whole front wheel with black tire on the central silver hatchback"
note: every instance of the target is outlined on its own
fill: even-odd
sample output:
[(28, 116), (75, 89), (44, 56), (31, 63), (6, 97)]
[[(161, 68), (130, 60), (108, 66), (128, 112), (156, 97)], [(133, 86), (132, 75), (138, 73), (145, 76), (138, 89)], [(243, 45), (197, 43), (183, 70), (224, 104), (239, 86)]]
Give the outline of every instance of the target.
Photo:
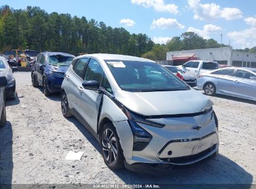
[(108, 168), (118, 170), (124, 167), (123, 150), (115, 127), (111, 123), (105, 124), (100, 131), (100, 147)]

